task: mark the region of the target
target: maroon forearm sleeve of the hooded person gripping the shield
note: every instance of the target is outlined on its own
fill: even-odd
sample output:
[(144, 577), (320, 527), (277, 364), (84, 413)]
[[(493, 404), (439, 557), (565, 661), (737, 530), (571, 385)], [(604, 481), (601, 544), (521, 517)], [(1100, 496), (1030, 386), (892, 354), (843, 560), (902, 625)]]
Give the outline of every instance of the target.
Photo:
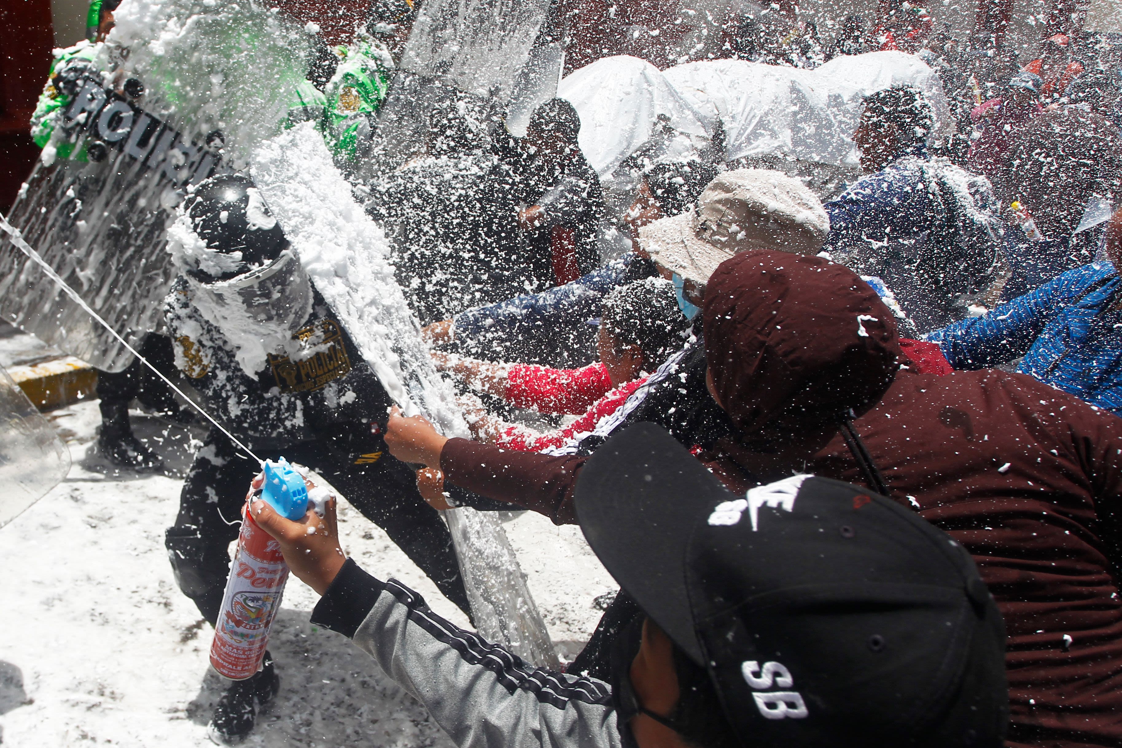
[(450, 438), (440, 453), (444, 480), (488, 499), (533, 509), (555, 525), (576, 525), (572, 491), (588, 458), (513, 452)]

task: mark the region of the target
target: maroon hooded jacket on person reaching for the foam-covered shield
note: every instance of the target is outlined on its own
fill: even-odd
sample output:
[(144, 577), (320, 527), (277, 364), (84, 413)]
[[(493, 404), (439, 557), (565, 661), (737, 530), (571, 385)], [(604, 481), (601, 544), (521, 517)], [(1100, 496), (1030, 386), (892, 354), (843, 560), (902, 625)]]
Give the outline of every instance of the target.
[[(729, 488), (791, 472), (868, 482), (863, 449), (892, 498), (971, 551), (997, 600), (1009, 745), (1122, 745), (1122, 419), (1022, 375), (912, 373), (876, 294), (820, 258), (734, 257), (703, 314), (715, 390), (742, 434), (701, 459)], [(441, 468), (573, 521), (582, 461), (452, 440)]]

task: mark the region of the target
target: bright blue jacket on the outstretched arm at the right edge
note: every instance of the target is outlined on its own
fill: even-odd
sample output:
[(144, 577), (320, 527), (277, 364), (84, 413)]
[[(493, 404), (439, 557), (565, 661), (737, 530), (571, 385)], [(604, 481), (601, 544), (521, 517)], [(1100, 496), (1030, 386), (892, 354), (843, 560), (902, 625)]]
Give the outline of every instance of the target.
[(1068, 270), (988, 314), (927, 336), (956, 369), (1017, 370), (1122, 415), (1122, 297), (1110, 262)]

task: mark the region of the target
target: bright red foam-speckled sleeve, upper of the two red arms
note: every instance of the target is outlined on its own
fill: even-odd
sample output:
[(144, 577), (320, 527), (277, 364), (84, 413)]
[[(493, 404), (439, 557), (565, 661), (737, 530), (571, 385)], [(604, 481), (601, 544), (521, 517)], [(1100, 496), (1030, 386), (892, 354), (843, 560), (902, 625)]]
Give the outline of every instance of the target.
[(610, 390), (608, 370), (599, 362), (583, 369), (518, 363), (506, 376), (504, 399), (519, 408), (536, 407), (542, 413), (585, 413)]

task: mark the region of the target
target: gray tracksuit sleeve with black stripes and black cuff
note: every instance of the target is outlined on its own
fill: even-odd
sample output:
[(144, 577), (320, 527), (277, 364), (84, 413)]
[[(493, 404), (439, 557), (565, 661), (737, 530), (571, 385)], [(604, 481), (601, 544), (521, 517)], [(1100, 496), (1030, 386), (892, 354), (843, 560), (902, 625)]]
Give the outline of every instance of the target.
[(606, 683), (533, 668), (436, 616), (402, 583), (366, 575), (353, 561), (340, 578), (312, 620), (350, 634), (340, 619), (357, 622), (368, 610), (353, 629), (355, 644), (423, 703), (460, 748), (619, 748)]

